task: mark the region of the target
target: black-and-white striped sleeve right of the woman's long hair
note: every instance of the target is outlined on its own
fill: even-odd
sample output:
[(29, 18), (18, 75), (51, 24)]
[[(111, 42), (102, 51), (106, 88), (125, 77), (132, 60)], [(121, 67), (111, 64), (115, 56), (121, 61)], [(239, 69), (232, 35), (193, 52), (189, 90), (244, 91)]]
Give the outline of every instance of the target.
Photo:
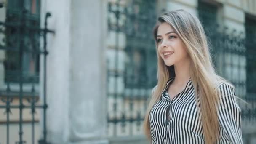
[(220, 144), (243, 144), (241, 132), (241, 110), (237, 104), (232, 85), (221, 84), (218, 109)]

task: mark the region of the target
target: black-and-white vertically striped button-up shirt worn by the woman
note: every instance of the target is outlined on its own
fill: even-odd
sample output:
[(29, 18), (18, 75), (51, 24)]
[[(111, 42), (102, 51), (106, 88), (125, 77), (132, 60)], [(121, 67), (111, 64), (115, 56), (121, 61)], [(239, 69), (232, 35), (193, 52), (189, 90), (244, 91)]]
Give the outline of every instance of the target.
[[(149, 113), (152, 144), (205, 144), (192, 80), (189, 79), (184, 90), (170, 100), (167, 90), (173, 79), (168, 80), (160, 100)], [(235, 90), (227, 83), (221, 83), (218, 89), (221, 92), (218, 144), (242, 144), (240, 107)]]

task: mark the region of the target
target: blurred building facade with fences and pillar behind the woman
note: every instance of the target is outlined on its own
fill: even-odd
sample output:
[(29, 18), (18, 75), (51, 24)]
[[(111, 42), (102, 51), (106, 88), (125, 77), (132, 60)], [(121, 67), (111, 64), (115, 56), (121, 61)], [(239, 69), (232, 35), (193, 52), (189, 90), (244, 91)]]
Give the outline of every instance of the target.
[(256, 144), (256, 0), (0, 0), (0, 144), (149, 144), (152, 28), (199, 17)]

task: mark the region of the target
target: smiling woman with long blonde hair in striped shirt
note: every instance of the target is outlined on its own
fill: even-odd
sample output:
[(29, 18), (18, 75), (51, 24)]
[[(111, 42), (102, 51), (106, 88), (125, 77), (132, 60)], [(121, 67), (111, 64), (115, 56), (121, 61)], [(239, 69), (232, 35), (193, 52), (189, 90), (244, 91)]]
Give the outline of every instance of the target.
[(152, 144), (242, 144), (235, 88), (216, 74), (205, 32), (184, 10), (158, 18), (157, 86), (144, 128)]

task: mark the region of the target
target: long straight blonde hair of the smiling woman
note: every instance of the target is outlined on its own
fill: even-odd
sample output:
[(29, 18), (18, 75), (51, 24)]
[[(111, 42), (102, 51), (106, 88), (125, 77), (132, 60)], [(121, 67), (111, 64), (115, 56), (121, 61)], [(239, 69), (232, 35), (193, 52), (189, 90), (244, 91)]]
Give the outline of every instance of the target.
[[(206, 144), (213, 144), (219, 138), (219, 122), (216, 106), (219, 102), (216, 85), (225, 81), (216, 74), (209, 52), (208, 40), (203, 30), (202, 24), (196, 16), (184, 10), (176, 10), (163, 14), (158, 18), (158, 24), (154, 29), (156, 40), (158, 26), (167, 22), (179, 35), (187, 47), (187, 52), (191, 59), (191, 80), (195, 88), (197, 108), (203, 125), (203, 133)], [(156, 48), (157, 48), (156, 43)], [(170, 77), (175, 76), (174, 67), (167, 67), (157, 53), (157, 79), (158, 83), (144, 120), (144, 132), (150, 139), (149, 113), (154, 104), (160, 99), (163, 88)], [(200, 104), (200, 107), (199, 107)]]

